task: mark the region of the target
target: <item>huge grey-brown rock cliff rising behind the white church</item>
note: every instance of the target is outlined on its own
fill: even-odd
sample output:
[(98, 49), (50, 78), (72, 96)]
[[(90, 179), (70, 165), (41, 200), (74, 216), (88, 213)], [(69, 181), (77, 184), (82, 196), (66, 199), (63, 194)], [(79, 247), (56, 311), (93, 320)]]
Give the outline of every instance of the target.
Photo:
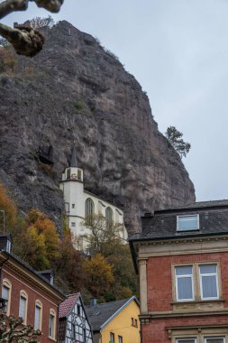
[[(19, 208), (61, 227), (61, 172), (75, 141), (87, 190), (119, 205), (129, 233), (152, 209), (195, 201), (178, 153), (158, 131), (141, 86), (87, 33), (67, 22), (45, 32), (43, 51), (0, 74), (0, 181)], [(53, 147), (54, 166), (39, 162)]]

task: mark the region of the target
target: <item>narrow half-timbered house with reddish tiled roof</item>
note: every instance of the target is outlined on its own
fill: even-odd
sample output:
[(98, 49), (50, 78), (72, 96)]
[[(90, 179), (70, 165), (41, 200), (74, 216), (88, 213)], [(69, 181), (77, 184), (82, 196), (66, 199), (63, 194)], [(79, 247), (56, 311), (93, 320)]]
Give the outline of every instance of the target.
[(80, 293), (69, 294), (59, 306), (58, 343), (73, 342), (93, 343), (93, 331)]

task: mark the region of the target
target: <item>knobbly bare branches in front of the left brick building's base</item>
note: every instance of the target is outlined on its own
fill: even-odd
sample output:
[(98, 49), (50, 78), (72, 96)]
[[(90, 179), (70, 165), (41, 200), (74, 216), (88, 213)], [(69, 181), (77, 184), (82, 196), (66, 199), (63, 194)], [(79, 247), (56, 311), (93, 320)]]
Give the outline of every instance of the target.
[(33, 330), (32, 325), (22, 325), (23, 318), (15, 319), (0, 312), (0, 343), (38, 343), (40, 330)]

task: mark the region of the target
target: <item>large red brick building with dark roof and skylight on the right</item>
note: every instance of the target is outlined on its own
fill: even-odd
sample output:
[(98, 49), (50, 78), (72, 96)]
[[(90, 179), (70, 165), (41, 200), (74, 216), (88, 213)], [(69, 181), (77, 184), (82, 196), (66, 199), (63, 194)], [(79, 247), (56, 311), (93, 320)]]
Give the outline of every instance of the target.
[(228, 343), (228, 200), (155, 211), (130, 239), (142, 343)]

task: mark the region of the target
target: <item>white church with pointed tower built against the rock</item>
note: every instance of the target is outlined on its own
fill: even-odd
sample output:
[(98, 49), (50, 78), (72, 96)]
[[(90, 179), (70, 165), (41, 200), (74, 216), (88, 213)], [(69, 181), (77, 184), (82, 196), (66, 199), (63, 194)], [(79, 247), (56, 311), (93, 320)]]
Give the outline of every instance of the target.
[(105, 218), (105, 229), (110, 225), (119, 226), (119, 235), (127, 239), (127, 231), (123, 224), (123, 210), (114, 204), (105, 201), (84, 190), (83, 170), (77, 167), (75, 145), (72, 149), (71, 159), (68, 167), (62, 174), (59, 184), (63, 191), (66, 212), (68, 216), (68, 227), (75, 236), (80, 237), (80, 248), (86, 249), (87, 242), (83, 236), (88, 234), (87, 228), (82, 224), (85, 218), (93, 215), (102, 215)]

